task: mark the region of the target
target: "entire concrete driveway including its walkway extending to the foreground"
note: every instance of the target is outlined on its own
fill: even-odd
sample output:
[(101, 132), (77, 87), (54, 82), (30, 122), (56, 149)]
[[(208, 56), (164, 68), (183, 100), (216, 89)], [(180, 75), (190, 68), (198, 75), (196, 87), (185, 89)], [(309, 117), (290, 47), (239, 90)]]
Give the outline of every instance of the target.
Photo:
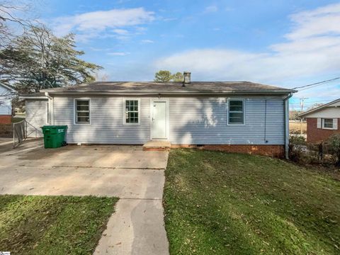
[(115, 196), (94, 254), (169, 254), (162, 195), (168, 152), (139, 146), (1, 149), (0, 194)]

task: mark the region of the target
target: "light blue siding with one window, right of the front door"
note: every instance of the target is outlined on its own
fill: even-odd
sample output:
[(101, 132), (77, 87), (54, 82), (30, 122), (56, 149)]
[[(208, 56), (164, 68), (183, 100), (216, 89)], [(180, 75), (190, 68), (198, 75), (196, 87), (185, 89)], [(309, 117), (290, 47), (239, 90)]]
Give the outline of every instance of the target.
[(170, 98), (170, 141), (177, 145), (283, 145), (281, 98), (245, 98), (244, 125), (227, 125), (223, 98)]

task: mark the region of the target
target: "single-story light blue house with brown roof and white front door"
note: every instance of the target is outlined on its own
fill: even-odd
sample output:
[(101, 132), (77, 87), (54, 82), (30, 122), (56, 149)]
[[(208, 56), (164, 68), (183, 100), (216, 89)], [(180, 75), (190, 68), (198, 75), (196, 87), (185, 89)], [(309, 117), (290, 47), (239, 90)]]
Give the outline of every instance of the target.
[[(26, 99), (33, 135), (68, 125), (72, 144), (205, 147), (281, 157), (288, 151), (293, 90), (239, 82), (94, 82), (46, 89)], [(34, 129), (35, 130), (32, 130)]]

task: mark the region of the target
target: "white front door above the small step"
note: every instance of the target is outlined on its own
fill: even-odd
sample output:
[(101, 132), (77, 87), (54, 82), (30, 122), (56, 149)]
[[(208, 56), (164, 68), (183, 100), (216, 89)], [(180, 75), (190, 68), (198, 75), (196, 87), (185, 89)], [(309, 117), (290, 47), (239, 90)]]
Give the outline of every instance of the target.
[(152, 139), (166, 139), (167, 134), (167, 107), (166, 101), (152, 101)]

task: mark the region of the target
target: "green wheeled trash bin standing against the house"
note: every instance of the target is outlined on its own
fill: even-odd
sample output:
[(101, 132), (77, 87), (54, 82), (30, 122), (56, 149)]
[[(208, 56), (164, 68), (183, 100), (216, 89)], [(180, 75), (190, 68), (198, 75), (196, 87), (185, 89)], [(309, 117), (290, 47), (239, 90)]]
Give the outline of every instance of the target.
[(66, 145), (67, 125), (44, 125), (41, 129), (45, 148), (59, 148)]

